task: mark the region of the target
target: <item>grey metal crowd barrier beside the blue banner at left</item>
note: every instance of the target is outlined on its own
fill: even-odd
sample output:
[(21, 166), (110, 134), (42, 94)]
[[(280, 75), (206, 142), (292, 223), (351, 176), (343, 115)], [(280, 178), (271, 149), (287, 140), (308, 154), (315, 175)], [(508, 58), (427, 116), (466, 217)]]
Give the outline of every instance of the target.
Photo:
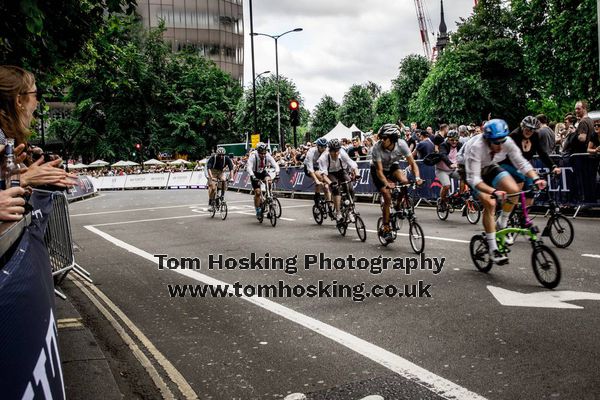
[[(90, 273), (75, 262), (71, 221), (69, 219), (69, 202), (63, 192), (52, 193), (52, 212), (48, 218), (44, 243), (50, 256), (55, 286), (60, 285), (71, 271), (93, 283)], [(60, 298), (66, 299), (66, 296), (58, 289), (55, 288), (54, 292)]]

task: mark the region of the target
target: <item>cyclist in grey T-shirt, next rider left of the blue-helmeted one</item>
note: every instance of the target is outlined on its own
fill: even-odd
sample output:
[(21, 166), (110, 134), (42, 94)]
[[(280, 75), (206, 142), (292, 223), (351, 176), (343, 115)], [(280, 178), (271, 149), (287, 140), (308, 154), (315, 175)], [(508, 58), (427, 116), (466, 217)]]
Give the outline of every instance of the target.
[(381, 193), (384, 200), (383, 206), (383, 233), (386, 240), (391, 241), (392, 233), (390, 228), (390, 205), (392, 196), (390, 189), (393, 189), (395, 182), (402, 184), (408, 183), (406, 173), (400, 169), (398, 161), (405, 159), (410, 165), (417, 185), (421, 185), (423, 180), (420, 177), (419, 167), (411, 155), (408, 145), (403, 139), (400, 139), (400, 128), (394, 124), (385, 124), (379, 128), (379, 141), (373, 146), (371, 153), (371, 176), (373, 183)]

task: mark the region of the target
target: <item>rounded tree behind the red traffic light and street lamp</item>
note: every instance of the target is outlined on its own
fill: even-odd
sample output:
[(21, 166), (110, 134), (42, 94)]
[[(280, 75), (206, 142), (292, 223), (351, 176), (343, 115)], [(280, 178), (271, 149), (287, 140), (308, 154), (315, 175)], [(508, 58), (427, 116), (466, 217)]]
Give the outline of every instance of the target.
[[(261, 134), (261, 140), (266, 142), (270, 139), (272, 143), (279, 143), (277, 133), (277, 81), (275, 76), (270, 75), (259, 79), (256, 83), (257, 129)], [(305, 118), (306, 114), (303, 114), (302, 97), (296, 89), (296, 85), (285, 76), (279, 75), (281, 130), (286, 141), (292, 138), (288, 109), (290, 100), (297, 100), (300, 103), (301, 126), (306, 126), (308, 121)], [(237, 106), (235, 125), (239, 132), (252, 132), (254, 130), (252, 88), (246, 90), (243, 99), (240, 100)]]

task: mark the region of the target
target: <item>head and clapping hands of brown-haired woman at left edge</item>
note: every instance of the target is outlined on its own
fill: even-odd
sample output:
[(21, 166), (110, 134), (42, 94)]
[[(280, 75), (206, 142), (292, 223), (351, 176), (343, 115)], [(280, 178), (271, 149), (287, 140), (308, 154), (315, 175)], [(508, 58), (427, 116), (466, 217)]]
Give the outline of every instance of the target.
[[(38, 105), (39, 93), (35, 77), (22, 68), (0, 66), (0, 151), (4, 150), (6, 138), (15, 139), (15, 155), (27, 147), (29, 126)], [(21, 172), (21, 186), (73, 186), (75, 175), (58, 168), (61, 159), (44, 163), (42, 155), (37, 161), (19, 157), (28, 166)]]

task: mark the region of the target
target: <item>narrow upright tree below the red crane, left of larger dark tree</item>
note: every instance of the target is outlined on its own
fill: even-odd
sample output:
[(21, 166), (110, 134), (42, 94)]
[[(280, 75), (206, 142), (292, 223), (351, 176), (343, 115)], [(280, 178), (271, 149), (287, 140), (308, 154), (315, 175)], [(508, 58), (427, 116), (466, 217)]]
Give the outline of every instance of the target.
[(430, 68), (431, 63), (421, 55), (411, 54), (400, 61), (398, 76), (392, 80), (399, 119), (405, 121), (408, 118), (408, 103), (416, 96)]

